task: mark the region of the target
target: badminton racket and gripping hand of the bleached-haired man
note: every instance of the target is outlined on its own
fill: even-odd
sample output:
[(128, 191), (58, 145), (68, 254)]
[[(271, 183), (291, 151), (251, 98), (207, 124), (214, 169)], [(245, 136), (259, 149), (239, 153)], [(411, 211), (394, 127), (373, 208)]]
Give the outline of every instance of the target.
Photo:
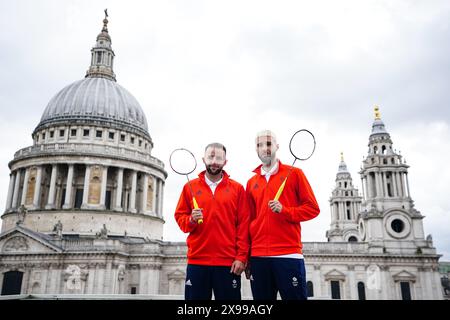
[(292, 163), (286, 178), (284, 178), (284, 181), (278, 188), (274, 199), (269, 202), (269, 207), (273, 212), (279, 213), (283, 207), (279, 202), (279, 199), (281, 197), (281, 194), (283, 193), (284, 187), (286, 186), (286, 181), (289, 178), (292, 169), (294, 168), (295, 162), (297, 160), (308, 160), (309, 158), (311, 158), (315, 150), (316, 139), (314, 138), (314, 135), (311, 133), (311, 131), (300, 129), (292, 135), (291, 141), (289, 142), (289, 151), (294, 156), (294, 162)]

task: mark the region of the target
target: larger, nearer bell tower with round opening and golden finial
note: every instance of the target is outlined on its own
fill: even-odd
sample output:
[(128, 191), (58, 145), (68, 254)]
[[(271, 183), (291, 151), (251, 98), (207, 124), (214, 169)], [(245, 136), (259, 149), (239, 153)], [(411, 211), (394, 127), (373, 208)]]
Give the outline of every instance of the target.
[(392, 140), (374, 108), (368, 154), (363, 160), (363, 210), (358, 229), (372, 252), (416, 253), (431, 246), (425, 241), (424, 216), (411, 199), (406, 161), (395, 151)]

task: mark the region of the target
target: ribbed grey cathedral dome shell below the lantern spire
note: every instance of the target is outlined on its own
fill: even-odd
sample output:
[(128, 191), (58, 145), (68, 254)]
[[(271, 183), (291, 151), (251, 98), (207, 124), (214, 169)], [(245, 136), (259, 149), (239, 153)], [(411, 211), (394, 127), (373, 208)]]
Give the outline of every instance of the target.
[(35, 131), (67, 122), (100, 122), (149, 135), (145, 114), (136, 98), (117, 82), (101, 77), (87, 77), (59, 91), (48, 103)]

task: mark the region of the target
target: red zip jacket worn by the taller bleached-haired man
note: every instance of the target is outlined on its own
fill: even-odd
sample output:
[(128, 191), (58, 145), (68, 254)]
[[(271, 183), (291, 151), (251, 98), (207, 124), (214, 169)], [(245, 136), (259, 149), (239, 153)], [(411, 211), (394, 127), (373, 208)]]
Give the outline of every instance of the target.
[(274, 213), (269, 208), (269, 201), (274, 199), (290, 168), (278, 164), (278, 172), (270, 176), (269, 182), (261, 175), (261, 165), (247, 182), (252, 257), (302, 253), (300, 222), (315, 218), (320, 212), (311, 186), (298, 168), (293, 168), (279, 199), (282, 211)]

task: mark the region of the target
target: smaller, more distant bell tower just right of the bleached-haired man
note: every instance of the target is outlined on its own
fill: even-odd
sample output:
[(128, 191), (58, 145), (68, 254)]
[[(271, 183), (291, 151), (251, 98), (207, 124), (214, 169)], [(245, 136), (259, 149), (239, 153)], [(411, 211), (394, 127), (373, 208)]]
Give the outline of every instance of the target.
[(326, 237), (329, 242), (359, 241), (358, 214), (361, 210), (361, 197), (353, 186), (352, 177), (344, 162), (341, 162), (336, 174), (336, 186), (330, 198), (331, 223)]

